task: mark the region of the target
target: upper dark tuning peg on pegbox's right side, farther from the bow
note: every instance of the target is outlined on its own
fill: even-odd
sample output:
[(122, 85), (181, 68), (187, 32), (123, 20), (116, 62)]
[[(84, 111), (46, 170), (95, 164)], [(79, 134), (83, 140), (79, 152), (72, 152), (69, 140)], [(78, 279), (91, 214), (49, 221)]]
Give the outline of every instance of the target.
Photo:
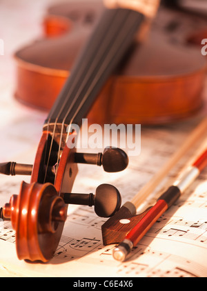
[(88, 163), (92, 165), (103, 165), (106, 172), (119, 172), (124, 170), (128, 165), (128, 156), (120, 148), (105, 148), (103, 154), (75, 153), (76, 163)]

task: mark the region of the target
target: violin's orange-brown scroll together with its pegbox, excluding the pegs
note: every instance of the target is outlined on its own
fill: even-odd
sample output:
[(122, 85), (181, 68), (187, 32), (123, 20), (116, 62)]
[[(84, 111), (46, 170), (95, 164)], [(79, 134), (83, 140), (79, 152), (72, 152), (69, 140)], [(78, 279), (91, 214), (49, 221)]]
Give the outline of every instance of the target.
[[(71, 149), (72, 145), (65, 144), (60, 151), (57, 170), (43, 174), (43, 169), (48, 164), (48, 152), (53, 152), (52, 156), (54, 152), (57, 154), (55, 149), (59, 147), (58, 138), (59, 134), (52, 139), (48, 132), (43, 132), (34, 161), (31, 183), (22, 182), (19, 195), (12, 195), (10, 202), (3, 208), (3, 216), (11, 220), (16, 231), (19, 259), (49, 261), (55, 254), (61, 238), (68, 210), (61, 192), (72, 190), (77, 164), (74, 162), (75, 150)], [(46, 181), (43, 181), (42, 177), (46, 177)], [(54, 184), (48, 182), (50, 179), (53, 179)]]

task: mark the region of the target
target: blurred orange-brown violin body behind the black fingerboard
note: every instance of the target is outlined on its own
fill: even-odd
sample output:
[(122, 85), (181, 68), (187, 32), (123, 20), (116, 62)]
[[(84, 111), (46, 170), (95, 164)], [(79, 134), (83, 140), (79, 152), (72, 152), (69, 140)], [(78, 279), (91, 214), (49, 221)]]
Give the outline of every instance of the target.
[[(19, 101), (50, 110), (102, 10), (101, 1), (81, 0), (49, 8), (45, 37), (14, 55)], [(166, 11), (169, 19), (163, 17)], [(166, 41), (167, 32), (159, 26), (171, 26), (170, 21), (170, 10), (162, 8), (146, 41), (132, 41), (88, 112), (90, 123), (166, 123), (201, 108), (206, 61), (199, 50)]]

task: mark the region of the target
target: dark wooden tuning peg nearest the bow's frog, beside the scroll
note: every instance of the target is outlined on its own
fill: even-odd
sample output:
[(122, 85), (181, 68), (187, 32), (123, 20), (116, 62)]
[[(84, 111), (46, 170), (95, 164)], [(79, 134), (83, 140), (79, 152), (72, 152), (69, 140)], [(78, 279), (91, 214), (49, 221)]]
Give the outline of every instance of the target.
[(101, 184), (95, 194), (65, 193), (66, 204), (95, 206), (99, 217), (112, 217), (121, 206), (121, 195), (117, 188), (109, 184)]

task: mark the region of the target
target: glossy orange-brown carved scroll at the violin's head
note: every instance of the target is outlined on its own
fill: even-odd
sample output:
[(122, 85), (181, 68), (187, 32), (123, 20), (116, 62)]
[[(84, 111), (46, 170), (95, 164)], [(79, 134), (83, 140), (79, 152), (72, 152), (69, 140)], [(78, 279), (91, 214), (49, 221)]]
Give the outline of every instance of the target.
[(21, 183), (19, 195), (12, 195), (3, 208), (16, 231), (19, 259), (46, 262), (61, 238), (67, 208), (50, 183)]

